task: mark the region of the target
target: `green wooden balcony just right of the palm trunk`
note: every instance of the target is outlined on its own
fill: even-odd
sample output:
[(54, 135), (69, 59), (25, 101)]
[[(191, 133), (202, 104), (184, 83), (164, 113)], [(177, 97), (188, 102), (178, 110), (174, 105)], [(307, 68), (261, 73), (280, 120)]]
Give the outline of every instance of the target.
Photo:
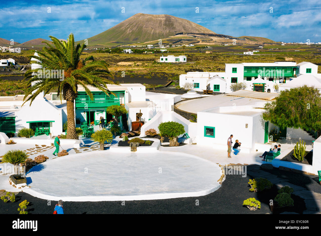
[(94, 99), (91, 100), (87, 94), (80, 94), (75, 100), (76, 108), (84, 107), (109, 107), (111, 105), (120, 105), (121, 98), (119, 97), (119, 92), (115, 95), (109, 94), (94, 94)]

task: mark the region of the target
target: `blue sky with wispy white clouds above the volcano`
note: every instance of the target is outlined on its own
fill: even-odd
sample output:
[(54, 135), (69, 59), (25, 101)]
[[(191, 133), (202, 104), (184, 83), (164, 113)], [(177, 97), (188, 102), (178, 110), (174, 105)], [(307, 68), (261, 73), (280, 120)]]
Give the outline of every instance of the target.
[[(259, 36), (285, 42), (321, 42), (321, 1), (168, 1), (168, 0), (0, 0), (0, 38), (25, 42), (76, 40), (101, 33), (136, 13), (169, 14), (216, 33)], [(48, 7), (51, 13), (48, 13)], [(122, 13), (125, 7), (125, 13)], [(195, 8), (199, 8), (199, 13)]]

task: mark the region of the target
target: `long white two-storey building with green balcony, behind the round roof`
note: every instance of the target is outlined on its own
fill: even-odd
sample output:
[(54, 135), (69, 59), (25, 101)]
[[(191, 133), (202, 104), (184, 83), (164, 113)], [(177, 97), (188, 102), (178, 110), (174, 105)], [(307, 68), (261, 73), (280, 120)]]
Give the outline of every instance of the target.
[(239, 63), (225, 64), (225, 72), (187, 72), (179, 76), (179, 86), (193, 83), (194, 90), (202, 92), (210, 84), (213, 92), (230, 93), (232, 83), (246, 83), (246, 90), (277, 92), (274, 84), (288, 83), (301, 74), (317, 74), (317, 65), (309, 62)]

